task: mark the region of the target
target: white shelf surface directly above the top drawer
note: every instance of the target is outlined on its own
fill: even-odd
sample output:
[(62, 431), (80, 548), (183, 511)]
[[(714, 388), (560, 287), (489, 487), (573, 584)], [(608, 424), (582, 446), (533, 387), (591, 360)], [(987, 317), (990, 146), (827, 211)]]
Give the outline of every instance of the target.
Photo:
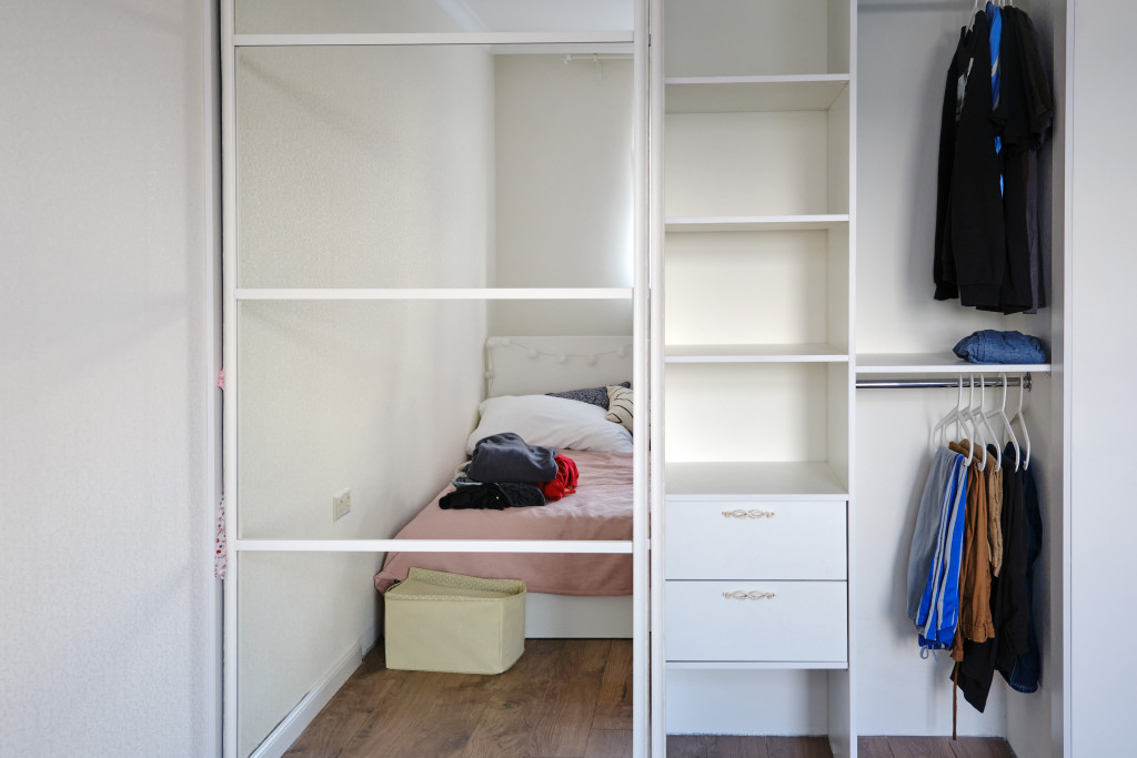
[(664, 466), (667, 500), (833, 500), (848, 488), (824, 461), (687, 463)]

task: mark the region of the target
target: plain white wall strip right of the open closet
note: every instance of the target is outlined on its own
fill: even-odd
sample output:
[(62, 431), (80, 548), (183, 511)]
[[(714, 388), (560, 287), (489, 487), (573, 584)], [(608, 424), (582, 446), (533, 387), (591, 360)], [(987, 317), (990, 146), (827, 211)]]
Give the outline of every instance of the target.
[[(1072, 755), (1117, 755), (1132, 719), (1137, 663), (1118, 632), (1137, 622), (1130, 556), (1137, 510), (1132, 469), (1137, 405), (1127, 397), (1137, 357), (1128, 334), (1137, 144), (1128, 124), (1137, 103), (1119, 84), (1137, 70), (1137, 6), (1121, 0), (1073, 6), (1071, 585)], [(1118, 653), (1121, 655), (1118, 655)]]

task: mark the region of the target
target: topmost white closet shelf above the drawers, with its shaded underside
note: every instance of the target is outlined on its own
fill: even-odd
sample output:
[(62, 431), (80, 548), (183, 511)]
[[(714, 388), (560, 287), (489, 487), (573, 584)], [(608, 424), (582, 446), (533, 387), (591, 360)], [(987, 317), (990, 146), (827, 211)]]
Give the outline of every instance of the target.
[(848, 86), (849, 75), (691, 76), (664, 84), (669, 114), (827, 110)]

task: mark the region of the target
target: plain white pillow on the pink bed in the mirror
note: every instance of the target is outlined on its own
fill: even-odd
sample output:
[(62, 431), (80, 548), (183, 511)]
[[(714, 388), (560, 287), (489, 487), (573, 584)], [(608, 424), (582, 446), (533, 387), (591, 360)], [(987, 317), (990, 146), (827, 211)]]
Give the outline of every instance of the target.
[(466, 455), (473, 455), (479, 440), (501, 432), (518, 434), (529, 444), (558, 450), (632, 451), (628, 430), (606, 419), (604, 408), (579, 400), (506, 394), (483, 400), (478, 413), (481, 420), (466, 440)]

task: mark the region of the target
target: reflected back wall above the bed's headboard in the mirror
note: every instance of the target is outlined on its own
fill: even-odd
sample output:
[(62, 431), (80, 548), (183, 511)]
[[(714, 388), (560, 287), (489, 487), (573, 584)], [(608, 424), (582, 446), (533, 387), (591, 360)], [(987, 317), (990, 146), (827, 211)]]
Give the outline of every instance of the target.
[[(496, 286), (632, 285), (632, 63), (496, 57)], [(495, 334), (631, 334), (631, 301), (495, 302)]]

